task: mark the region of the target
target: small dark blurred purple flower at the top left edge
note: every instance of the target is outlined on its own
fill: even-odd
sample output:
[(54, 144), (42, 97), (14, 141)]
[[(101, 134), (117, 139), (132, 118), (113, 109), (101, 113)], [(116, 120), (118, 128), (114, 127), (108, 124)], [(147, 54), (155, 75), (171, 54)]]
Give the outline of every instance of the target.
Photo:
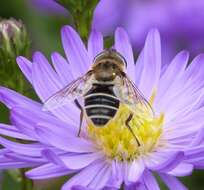
[(67, 15), (67, 10), (55, 0), (28, 0), (28, 3), (42, 13)]

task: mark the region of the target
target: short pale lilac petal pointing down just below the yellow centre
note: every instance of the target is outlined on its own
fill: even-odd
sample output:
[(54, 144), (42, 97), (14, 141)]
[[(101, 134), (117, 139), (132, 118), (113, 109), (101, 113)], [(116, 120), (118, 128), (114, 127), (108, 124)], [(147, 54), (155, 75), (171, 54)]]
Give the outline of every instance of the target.
[(137, 182), (144, 172), (144, 163), (141, 159), (134, 160), (129, 169), (128, 181)]

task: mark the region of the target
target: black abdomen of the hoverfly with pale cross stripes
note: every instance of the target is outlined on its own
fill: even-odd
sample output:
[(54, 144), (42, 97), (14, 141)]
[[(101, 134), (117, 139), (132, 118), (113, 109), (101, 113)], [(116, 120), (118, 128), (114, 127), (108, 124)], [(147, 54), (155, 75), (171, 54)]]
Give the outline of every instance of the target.
[(113, 85), (94, 84), (84, 98), (86, 114), (96, 126), (103, 126), (112, 119), (120, 104)]

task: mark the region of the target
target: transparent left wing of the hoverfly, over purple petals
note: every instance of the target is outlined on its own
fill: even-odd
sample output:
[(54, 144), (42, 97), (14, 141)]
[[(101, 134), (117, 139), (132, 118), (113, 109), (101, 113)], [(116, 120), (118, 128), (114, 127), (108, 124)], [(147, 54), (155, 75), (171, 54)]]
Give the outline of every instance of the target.
[(77, 78), (69, 83), (63, 89), (56, 92), (43, 105), (43, 110), (53, 110), (61, 107), (70, 101), (75, 100), (84, 95), (86, 91), (91, 88), (91, 82), (89, 79), (92, 76), (92, 71), (89, 71), (84, 76)]

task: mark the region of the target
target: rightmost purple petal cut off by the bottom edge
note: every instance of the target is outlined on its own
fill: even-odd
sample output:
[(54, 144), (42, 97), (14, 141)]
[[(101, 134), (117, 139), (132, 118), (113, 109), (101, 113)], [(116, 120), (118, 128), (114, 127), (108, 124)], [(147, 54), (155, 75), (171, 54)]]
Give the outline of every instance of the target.
[(166, 174), (159, 175), (170, 190), (187, 190), (187, 188), (175, 177)]

